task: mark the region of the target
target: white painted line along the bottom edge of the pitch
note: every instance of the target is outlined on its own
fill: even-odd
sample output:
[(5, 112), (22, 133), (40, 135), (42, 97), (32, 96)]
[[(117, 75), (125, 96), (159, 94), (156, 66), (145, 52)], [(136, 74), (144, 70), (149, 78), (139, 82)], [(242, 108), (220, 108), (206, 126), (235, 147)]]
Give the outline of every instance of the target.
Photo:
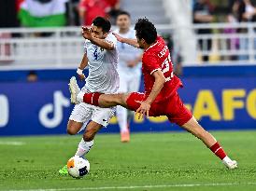
[(164, 187), (196, 187), (196, 186), (223, 186), (223, 185), (256, 185), (256, 183), (213, 183), (213, 184), (159, 184), (159, 185), (131, 185), (131, 186), (107, 186), (107, 187), (78, 187), (78, 188), (49, 188), (26, 189), (9, 191), (77, 191), (77, 190), (117, 190), (135, 188), (164, 188)]

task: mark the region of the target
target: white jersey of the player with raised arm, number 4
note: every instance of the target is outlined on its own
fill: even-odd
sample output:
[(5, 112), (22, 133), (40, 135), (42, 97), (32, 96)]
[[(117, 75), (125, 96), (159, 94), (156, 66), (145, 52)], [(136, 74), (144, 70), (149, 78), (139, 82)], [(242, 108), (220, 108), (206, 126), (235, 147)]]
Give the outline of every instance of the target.
[(113, 50), (93, 45), (90, 40), (85, 41), (89, 75), (83, 90), (115, 93), (119, 89), (117, 39), (113, 34), (108, 34), (106, 40), (114, 44)]

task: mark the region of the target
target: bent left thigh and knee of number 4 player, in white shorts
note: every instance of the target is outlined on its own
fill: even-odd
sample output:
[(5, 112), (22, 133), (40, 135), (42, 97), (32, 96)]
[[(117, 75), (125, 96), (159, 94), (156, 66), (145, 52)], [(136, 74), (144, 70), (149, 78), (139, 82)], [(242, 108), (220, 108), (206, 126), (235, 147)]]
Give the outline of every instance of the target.
[(85, 128), (84, 124), (92, 117), (92, 105), (81, 102), (76, 104), (67, 124), (69, 134), (76, 134)]

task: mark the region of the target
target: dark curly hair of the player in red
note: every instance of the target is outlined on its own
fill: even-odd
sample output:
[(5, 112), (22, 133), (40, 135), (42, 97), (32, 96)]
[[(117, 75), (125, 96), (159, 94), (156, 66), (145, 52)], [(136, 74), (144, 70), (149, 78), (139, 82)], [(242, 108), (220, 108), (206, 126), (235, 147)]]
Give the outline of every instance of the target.
[(152, 44), (156, 41), (156, 28), (147, 18), (137, 20), (135, 23), (135, 31), (138, 39), (143, 38), (147, 44)]

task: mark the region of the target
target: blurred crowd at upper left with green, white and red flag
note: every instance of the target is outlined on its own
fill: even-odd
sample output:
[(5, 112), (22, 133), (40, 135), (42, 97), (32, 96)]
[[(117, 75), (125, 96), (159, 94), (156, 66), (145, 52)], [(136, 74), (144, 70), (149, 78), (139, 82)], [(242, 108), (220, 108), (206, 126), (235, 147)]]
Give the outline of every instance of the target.
[(2, 0), (0, 28), (91, 25), (96, 16), (113, 22), (119, 10), (120, 0)]

